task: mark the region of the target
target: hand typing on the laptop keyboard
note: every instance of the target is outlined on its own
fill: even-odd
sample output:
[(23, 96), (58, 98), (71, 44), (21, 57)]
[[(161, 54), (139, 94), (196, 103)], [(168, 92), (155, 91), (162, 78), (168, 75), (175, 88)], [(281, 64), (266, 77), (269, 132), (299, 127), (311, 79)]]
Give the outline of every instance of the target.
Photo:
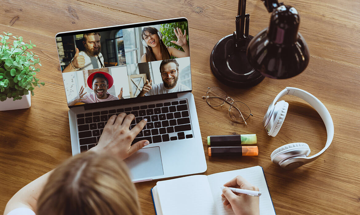
[(118, 116), (111, 116), (104, 127), (98, 145), (90, 150), (100, 153), (112, 153), (123, 160), (134, 154), (140, 148), (148, 145), (148, 140), (141, 140), (131, 145), (136, 135), (139, 134), (147, 123), (147, 121), (143, 119), (130, 130), (131, 121), (134, 119), (134, 114), (126, 115), (125, 113), (121, 113)]

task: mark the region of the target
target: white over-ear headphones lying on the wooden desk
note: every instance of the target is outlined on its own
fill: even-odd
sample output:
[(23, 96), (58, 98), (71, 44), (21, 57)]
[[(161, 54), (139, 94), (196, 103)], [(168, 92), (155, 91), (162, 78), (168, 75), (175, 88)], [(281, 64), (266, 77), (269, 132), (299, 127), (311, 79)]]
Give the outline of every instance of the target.
[(275, 137), (284, 122), (289, 104), (284, 100), (276, 102), (284, 95), (293, 95), (299, 97), (314, 107), (314, 109), (319, 113), (321, 119), (324, 121), (326, 133), (328, 136), (325, 147), (317, 154), (310, 157), (307, 157), (311, 150), (306, 143), (289, 143), (287, 145), (276, 148), (270, 155), (271, 161), (273, 161), (275, 164), (278, 164), (281, 168), (289, 170), (298, 168), (299, 166), (316, 160), (321, 154), (323, 154), (325, 150), (327, 150), (334, 137), (334, 124), (328, 109), (326, 109), (325, 105), (321, 103), (319, 99), (305, 90), (294, 87), (286, 87), (269, 105), (269, 109), (267, 110), (264, 116), (264, 120), (262, 121), (262, 124), (264, 125), (269, 136)]

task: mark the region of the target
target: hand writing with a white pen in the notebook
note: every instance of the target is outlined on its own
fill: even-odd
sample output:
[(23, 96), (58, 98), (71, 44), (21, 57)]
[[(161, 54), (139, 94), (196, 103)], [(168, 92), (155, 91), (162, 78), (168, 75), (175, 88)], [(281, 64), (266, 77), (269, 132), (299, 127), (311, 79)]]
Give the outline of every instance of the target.
[(221, 197), (225, 198), (224, 205), (227, 208), (232, 208), (237, 215), (258, 215), (259, 197), (249, 196), (242, 193), (233, 193), (228, 187), (235, 187), (241, 189), (249, 189), (259, 191), (259, 188), (250, 184), (246, 179), (238, 175), (229, 182), (224, 184), (225, 188), (222, 189)]

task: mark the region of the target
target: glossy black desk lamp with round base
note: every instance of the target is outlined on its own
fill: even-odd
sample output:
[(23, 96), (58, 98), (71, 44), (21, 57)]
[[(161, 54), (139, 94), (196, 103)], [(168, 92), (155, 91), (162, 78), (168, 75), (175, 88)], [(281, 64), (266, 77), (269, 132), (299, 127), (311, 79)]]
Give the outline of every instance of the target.
[(236, 31), (217, 42), (211, 52), (211, 70), (228, 86), (252, 87), (265, 76), (291, 78), (300, 74), (309, 63), (309, 49), (298, 33), (300, 17), (297, 10), (279, 4), (277, 0), (265, 0), (264, 4), (268, 12), (273, 12), (268, 28), (255, 37), (249, 35), (246, 0), (239, 0)]

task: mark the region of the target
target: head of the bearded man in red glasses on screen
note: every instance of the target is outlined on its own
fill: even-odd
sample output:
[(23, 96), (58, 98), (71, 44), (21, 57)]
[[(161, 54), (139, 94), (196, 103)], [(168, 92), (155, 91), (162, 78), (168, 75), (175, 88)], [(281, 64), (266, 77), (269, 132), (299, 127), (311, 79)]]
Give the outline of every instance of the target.
[(160, 73), (164, 86), (168, 89), (174, 88), (179, 79), (179, 63), (175, 59), (161, 61)]

